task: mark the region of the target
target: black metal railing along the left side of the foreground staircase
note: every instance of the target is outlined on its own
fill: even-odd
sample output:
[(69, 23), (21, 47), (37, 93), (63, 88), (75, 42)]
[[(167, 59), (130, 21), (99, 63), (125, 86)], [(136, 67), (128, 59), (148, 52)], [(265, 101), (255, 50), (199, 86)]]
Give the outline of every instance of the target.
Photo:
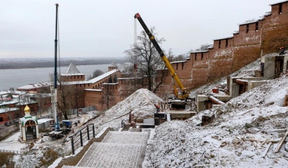
[(88, 124), (75, 132), (73, 135), (69, 136), (71, 139), (72, 154), (75, 154), (75, 150), (77, 150), (80, 146), (83, 146), (83, 143), (90, 140), (91, 137), (95, 138), (94, 124)]

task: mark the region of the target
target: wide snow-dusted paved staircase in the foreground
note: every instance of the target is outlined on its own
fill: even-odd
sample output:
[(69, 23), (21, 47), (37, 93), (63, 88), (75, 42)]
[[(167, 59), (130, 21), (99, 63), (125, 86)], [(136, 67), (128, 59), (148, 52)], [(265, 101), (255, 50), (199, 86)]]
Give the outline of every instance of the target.
[(76, 166), (87, 167), (142, 167), (149, 132), (110, 131), (102, 142), (94, 142)]

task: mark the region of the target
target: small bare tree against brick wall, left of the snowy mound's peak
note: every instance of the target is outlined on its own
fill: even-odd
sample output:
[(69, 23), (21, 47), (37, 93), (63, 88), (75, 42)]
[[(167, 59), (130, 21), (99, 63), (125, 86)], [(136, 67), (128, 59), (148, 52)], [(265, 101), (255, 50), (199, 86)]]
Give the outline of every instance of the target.
[(102, 90), (102, 99), (100, 100), (102, 107), (107, 109), (115, 104), (115, 91), (110, 87), (111, 85), (106, 85), (106, 87)]

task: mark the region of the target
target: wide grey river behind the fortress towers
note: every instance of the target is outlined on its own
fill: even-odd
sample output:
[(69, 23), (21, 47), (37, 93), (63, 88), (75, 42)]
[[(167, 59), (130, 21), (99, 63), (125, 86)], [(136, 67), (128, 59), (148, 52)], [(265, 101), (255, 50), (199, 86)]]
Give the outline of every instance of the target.
[[(78, 70), (85, 74), (92, 75), (93, 71), (100, 69), (104, 72), (108, 71), (110, 64), (102, 65), (82, 65), (76, 66)], [(67, 67), (61, 67), (61, 73), (64, 73)], [(49, 74), (54, 73), (54, 68), (30, 68), (30, 69), (5, 69), (0, 70), (0, 91), (14, 87), (15, 89), (29, 83), (48, 82)]]

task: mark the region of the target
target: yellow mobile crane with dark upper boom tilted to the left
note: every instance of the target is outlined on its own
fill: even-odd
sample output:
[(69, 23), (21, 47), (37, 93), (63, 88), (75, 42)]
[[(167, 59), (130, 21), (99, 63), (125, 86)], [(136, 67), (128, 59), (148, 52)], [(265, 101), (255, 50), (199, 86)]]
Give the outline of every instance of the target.
[[(151, 40), (151, 42), (153, 43), (154, 47), (156, 48), (156, 50), (158, 51), (162, 61), (164, 62), (166, 68), (168, 68), (172, 78), (173, 78), (173, 86), (174, 86), (174, 95), (175, 97), (171, 98), (169, 100), (169, 104), (171, 104), (172, 108), (177, 108), (180, 107), (182, 109), (185, 109), (186, 104), (190, 102), (190, 97), (189, 97), (189, 91), (183, 86), (182, 82), (180, 81), (178, 75), (176, 74), (175, 70), (173, 69), (172, 65), (170, 64), (169, 60), (167, 59), (166, 55), (163, 53), (162, 49), (160, 48), (159, 44), (157, 43), (157, 41), (155, 40), (155, 37), (151, 34), (150, 30), (148, 29), (148, 27), (146, 26), (146, 24), (144, 23), (144, 21), (142, 20), (141, 16), (139, 13), (134, 15), (134, 18), (139, 21), (139, 23), (141, 24), (141, 26), (143, 27), (143, 29), (145, 30), (145, 32), (147, 33), (149, 39)], [(179, 89), (177, 89), (177, 86), (179, 87)]]

